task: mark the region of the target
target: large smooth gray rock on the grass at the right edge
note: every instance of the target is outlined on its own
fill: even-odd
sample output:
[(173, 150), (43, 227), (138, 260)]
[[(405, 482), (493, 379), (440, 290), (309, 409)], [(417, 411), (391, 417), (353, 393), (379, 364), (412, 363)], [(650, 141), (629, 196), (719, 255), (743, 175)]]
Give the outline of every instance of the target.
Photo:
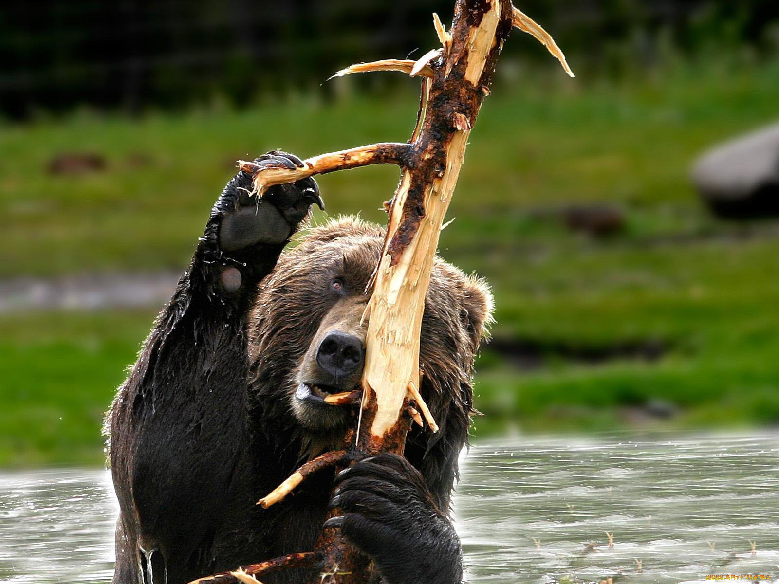
[(779, 216), (779, 123), (703, 153), (693, 184), (719, 216)]

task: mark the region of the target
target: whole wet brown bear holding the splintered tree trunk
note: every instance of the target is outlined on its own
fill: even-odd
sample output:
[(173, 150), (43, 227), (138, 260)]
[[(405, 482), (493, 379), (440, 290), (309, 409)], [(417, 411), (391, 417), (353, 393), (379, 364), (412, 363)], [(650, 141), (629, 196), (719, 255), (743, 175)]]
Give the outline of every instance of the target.
[[(260, 166), (301, 161), (272, 151)], [(106, 420), (120, 505), (116, 584), (180, 584), (312, 550), (342, 529), (372, 560), (372, 581), (454, 584), (462, 553), (449, 521), (467, 443), (474, 355), (491, 318), (485, 286), (436, 259), (421, 331), (421, 393), (440, 430), (415, 427), (404, 457), (322, 471), (270, 508), (256, 501), (302, 462), (340, 445), (359, 387), (366, 287), (382, 230), (354, 218), (299, 237), (322, 206), (311, 178), (249, 196), (241, 171), (213, 207), (194, 258), (118, 390)], [(330, 500), (334, 483), (338, 487)], [(264, 582), (309, 582), (290, 570)]]

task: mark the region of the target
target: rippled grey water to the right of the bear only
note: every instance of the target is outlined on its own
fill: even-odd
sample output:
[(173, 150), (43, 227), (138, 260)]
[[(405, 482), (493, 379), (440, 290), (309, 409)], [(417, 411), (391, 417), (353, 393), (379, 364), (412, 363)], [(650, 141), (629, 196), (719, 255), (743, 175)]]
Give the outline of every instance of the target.
[(473, 582), (779, 582), (779, 436), (482, 444), (456, 515)]

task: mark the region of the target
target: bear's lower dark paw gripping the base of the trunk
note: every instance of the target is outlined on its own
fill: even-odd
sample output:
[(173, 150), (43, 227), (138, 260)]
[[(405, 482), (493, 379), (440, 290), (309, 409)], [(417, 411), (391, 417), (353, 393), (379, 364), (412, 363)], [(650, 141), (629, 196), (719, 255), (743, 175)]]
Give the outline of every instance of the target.
[(386, 582), (460, 582), (460, 540), (406, 459), (370, 456), (342, 471), (336, 484), (330, 508), (340, 514), (325, 527), (340, 528), (372, 558)]

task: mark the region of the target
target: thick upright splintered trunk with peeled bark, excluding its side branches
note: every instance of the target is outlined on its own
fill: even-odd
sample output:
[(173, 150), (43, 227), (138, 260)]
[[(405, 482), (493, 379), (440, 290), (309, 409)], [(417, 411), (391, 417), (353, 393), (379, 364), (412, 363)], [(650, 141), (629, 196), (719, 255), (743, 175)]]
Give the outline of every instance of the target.
[(395, 431), (408, 389), (419, 385), (419, 334), (435, 248), (485, 97), (481, 86), (489, 84), (511, 14), (510, 2), (503, 0), (457, 2), (452, 44), (432, 79), (414, 141), (416, 164), (404, 170), (393, 199), (369, 301), (363, 373), (369, 434), (358, 438), (361, 448), (375, 449), (375, 442)]

